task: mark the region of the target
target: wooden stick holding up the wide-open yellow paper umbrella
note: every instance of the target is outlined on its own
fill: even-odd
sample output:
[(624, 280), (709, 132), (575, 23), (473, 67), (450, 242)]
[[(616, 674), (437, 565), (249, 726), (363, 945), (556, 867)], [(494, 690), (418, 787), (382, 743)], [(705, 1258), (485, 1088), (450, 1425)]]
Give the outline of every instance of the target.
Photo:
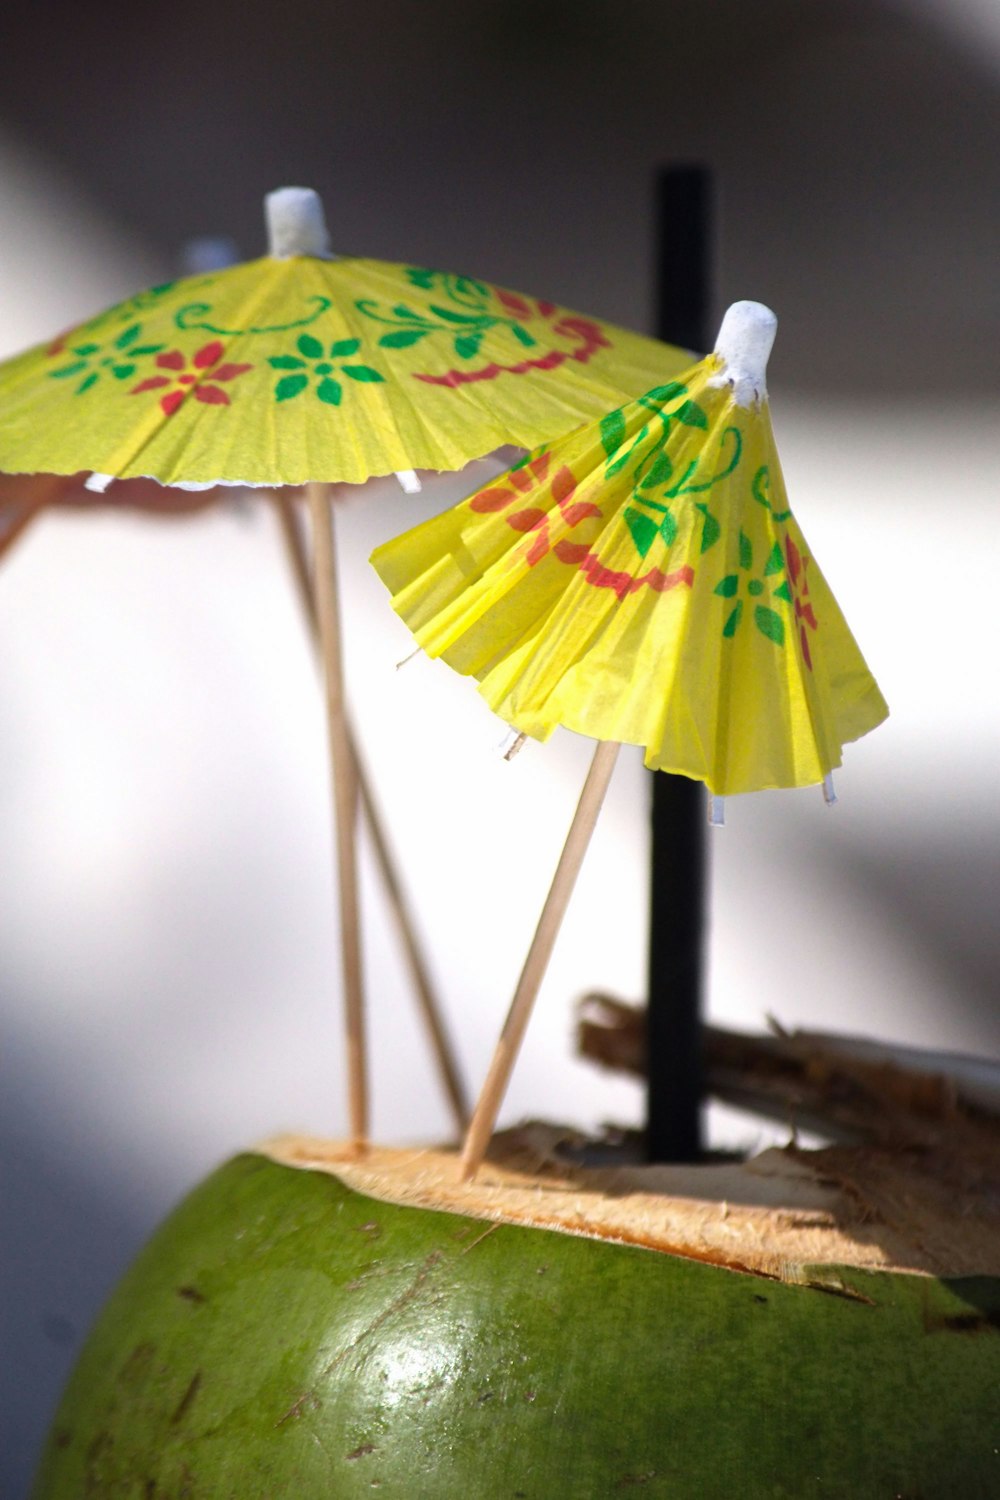
[(333, 780), (337, 886), (340, 897), (340, 954), (348, 1054), (348, 1107), (351, 1140), (358, 1150), (367, 1144), (367, 1068), (364, 1047), (364, 993), (361, 984), (361, 938), (355, 843), (357, 776), (348, 722), (343, 711), (343, 660), (337, 608), (337, 560), (333, 542), (333, 510), (328, 484), (309, 484), (313, 532), (316, 618), (327, 686), (327, 728)]

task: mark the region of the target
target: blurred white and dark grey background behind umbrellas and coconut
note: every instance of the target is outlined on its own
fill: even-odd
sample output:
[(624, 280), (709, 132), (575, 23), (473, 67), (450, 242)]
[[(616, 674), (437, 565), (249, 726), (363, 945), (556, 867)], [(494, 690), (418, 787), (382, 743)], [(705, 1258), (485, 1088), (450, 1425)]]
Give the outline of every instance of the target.
[[(712, 834), (709, 1014), (1000, 1053), (996, 692), (1000, 10), (991, 0), (39, 3), (0, 51), (0, 354), (264, 250), (306, 183), (334, 249), (651, 328), (654, 178), (717, 174), (718, 312), (778, 314), (792, 504), (891, 704), (819, 790)], [(358, 734), (469, 1088), (589, 759), (411, 650), (367, 567), (489, 465), (345, 504)], [(0, 1494), (88, 1320), (177, 1197), (346, 1126), (318, 678), (274, 516), (43, 514), (0, 576)], [(642, 999), (648, 778), (616, 774), (504, 1120), (637, 1124), (573, 1000)], [(364, 858), (373, 1131), (448, 1134)], [(712, 1142), (774, 1138), (714, 1113)]]

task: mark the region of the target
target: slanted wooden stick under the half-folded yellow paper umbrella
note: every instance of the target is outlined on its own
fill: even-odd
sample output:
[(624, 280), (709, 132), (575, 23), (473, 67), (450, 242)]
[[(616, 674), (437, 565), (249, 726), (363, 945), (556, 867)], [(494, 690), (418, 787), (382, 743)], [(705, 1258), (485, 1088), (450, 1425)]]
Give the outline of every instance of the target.
[(472, 1113), (468, 1136), (465, 1137), (460, 1168), (462, 1179), (465, 1182), (469, 1182), (475, 1176), (486, 1154), (489, 1138), (493, 1132), (493, 1124), (499, 1113), (504, 1094), (507, 1092), (507, 1084), (510, 1082), (514, 1062), (517, 1060), (520, 1044), (525, 1038), (525, 1029), (528, 1026), (546, 969), (549, 968), (549, 958), (552, 957), (552, 950), (555, 946), (559, 927), (562, 926), (565, 909), (570, 904), (573, 886), (576, 885), (576, 878), (580, 873), (583, 855), (586, 854), (586, 848), (591, 842), (591, 834), (594, 832), (594, 825), (597, 824), (597, 816), (601, 810), (604, 794), (607, 792), (607, 783), (610, 782), (612, 771), (615, 770), (615, 760), (618, 759), (619, 750), (619, 744), (613, 740), (607, 740), (601, 741), (594, 753), (591, 770), (588, 771), (583, 790), (580, 792), (580, 801), (577, 802), (573, 822), (570, 824), (567, 842), (562, 846), (562, 854), (559, 855), (556, 873), (552, 879), (552, 885), (549, 886), (546, 904), (543, 906), (541, 916), (538, 918), (535, 936), (532, 938), (528, 957), (525, 958), (525, 968), (520, 970), (520, 980), (517, 981), (517, 988), (514, 990), (514, 999), (511, 1000), (501, 1038), (496, 1044), (496, 1052), (493, 1053), (490, 1071), (486, 1076), (483, 1092), (480, 1094)]

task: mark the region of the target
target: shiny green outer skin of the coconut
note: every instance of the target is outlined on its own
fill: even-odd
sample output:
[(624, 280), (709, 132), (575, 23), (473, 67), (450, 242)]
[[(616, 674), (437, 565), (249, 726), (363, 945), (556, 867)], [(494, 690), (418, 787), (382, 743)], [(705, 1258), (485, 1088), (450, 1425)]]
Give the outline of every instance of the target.
[(34, 1500), (1000, 1494), (1000, 1280), (814, 1280), (243, 1155), (105, 1306)]

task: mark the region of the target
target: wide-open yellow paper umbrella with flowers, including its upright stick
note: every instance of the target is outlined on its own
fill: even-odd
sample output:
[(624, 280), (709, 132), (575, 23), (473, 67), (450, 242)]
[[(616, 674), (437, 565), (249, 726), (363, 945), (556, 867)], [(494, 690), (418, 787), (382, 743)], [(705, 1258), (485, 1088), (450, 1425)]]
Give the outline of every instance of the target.
[[(268, 200), (264, 260), (154, 286), (0, 364), (0, 471), (309, 486), (324, 644), (351, 1130), (367, 1128), (354, 852), (328, 486), (532, 446), (685, 363), (667, 345), (441, 272), (336, 260), (313, 194)], [(28, 478), (36, 476), (36, 478)]]

